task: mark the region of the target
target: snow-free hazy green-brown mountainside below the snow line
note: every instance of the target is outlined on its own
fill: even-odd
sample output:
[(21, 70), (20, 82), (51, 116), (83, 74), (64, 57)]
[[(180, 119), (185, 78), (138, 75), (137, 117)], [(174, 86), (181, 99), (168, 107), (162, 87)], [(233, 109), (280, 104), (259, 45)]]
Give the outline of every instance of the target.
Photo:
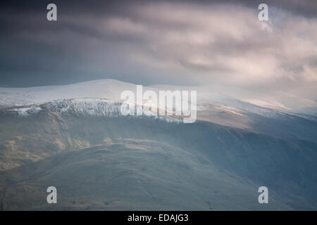
[[(3, 210), (316, 209), (317, 148), (308, 141), (45, 111), (6, 117), (0, 134)], [(46, 203), (48, 186), (58, 188), (57, 205)], [(266, 206), (259, 186), (269, 188)]]

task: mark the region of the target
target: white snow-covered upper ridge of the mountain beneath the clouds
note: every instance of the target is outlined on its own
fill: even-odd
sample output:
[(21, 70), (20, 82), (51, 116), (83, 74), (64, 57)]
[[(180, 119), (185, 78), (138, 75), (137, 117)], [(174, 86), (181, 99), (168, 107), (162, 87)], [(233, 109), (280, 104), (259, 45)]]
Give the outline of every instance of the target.
[[(51, 101), (63, 99), (111, 99), (114, 101), (121, 101), (120, 94), (125, 90), (130, 90), (136, 93), (136, 84), (127, 82), (120, 82), (115, 79), (99, 79), (89, 82), (80, 82), (77, 84), (61, 85), (61, 86), (39, 86), (27, 88), (0, 88), (0, 108), (13, 108), (16, 106), (34, 105), (41, 103), (49, 103)], [(170, 86), (170, 85), (156, 85), (144, 86), (143, 91), (153, 90), (157, 93), (160, 90), (196, 90), (197, 91), (197, 110), (204, 108), (204, 105), (217, 105), (218, 108), (223, 108), (224, 111), (239, 113), (240, 110), (245, 110), (250, 113), (262, 115), (264, 117), (284, 117), (285, 115), (296, 115), (304, 117), (309, 120), (317, 120), (317, 104), (314, 101), (305, 101), (302, 98), (294, 98), (299, 103), (294, 104), (297, 107), (287, 108), (281, 107), (281, 103), (271, 103), (268, 105), (267, 101), (263, 99), (256, 101), (252, 99), (251, 102), (257, 102), (259, 105), (244, 101), (246, 98), (242, 95), (232, 97), (228, 94), (228, 89), (215, 86)], [(273, 102), (273, 101), (272, 101)], [(301, 103), (304, 106), (301, 108)], [(309, 103), (309, 105), (307, 105)], [(266, 107), (263, 107), (266, 106)], [(32, 106), (34, 108), (35, 106)], [(23, 112), (23, 108), (19, 109)], [(25, 109), (24, 111), (27, 111)], [(36, 112), (36, 110), (35, 110)]]

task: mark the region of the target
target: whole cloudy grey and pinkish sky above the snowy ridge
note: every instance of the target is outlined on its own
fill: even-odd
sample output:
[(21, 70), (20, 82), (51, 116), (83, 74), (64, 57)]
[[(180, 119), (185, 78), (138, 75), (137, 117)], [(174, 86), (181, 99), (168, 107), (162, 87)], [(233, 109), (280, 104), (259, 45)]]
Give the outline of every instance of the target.
[[(57, 21), (46, 19), (49, 3)], [(111, 78), (317, 101), (315, 0), (1, 1), (0, 29), (0, 86)]]

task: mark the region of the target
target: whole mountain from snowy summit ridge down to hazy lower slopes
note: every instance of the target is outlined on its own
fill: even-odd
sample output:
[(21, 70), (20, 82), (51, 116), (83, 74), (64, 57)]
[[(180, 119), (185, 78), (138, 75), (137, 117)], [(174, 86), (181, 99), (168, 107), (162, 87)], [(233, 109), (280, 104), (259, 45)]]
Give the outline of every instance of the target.
[(58, 210), (263, 210), (262, 185), (267, 210), (316, 210), (317, 122), (308, 115), (206, 86), (144, 86), (196, 90), (197, 122), (135, 103), (144, 115), (123, 116), (125, 90), (136, 85), (1, 88), (0, 210), (51, 210), (42, 201), (52, 184)]

